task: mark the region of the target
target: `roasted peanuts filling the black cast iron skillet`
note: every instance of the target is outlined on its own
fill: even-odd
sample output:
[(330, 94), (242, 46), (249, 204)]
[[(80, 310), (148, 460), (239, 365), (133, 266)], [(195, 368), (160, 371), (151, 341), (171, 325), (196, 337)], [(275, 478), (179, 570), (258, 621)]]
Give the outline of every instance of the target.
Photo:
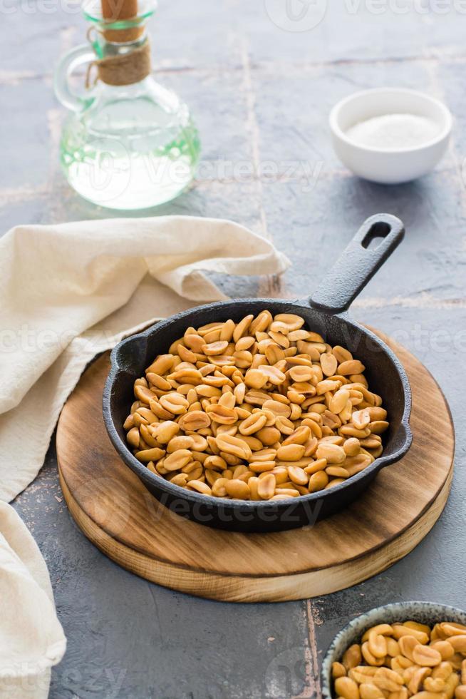
[(188, 327), (134, 384), (127, 440), (153, 474), (214, 497), (282, 500), (331, 488), (382, 453), (365, 367), (268, 310)]

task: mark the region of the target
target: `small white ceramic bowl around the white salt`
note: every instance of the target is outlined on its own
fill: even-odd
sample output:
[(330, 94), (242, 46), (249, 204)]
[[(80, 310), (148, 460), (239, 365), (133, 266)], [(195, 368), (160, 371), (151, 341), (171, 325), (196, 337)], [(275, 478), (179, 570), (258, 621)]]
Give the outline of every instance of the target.
[[(351, 126), (384, 114), (406, 113), (432, 119), (435, 138), (415, 148), (383, 150), (354, 143), (346, 132)], [(447, 148), (452, 116), (437, 99), (404, 88), (376, 88), (356, 92), (338, 102), (330, 113), (333, 148), (343, 165), (355, 175), (381, 184), (415, 180), (433, 170)]]

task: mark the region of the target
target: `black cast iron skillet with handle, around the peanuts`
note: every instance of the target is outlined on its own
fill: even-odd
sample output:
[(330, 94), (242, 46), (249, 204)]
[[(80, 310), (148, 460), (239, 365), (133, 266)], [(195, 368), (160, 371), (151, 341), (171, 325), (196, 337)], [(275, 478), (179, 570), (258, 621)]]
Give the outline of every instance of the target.
[[(395, 354), (365, 327), (348, 316), (348, 307), (366, 283), (403, 240), (403, 224), (388, 214), (368, 218), (343, 251), (333, 270), (312, 297), (301, 301), (274, 299), (232, 300), (200, 306), (153, 325), (139, 335), (123, 340), (111, 354), (111, 369), (103, 393), (103, 417), (113, 446), (125, 464), (143, 481), (162, 504), (177, 514), (201, 524), (234, 531), (279, 531), (314, 524), (355, 500), (378, 471), (408, 451), (411, 392), (408, 377)], [(375, 239), (380, 240), (380, 242)], [(376, 247), (371, 243), (377, 243)], [(390, 428), (385, 433), (382, 456), (361, 473), (333, 488), (293, 500), (242, 501), (217, 499), (180, 488), (155, 476), (135, 459), (126, 446), (123, 422), (133, 402), (133, 382), (145, 373), (157, 354), (184, 335), (189, 326), (269, 309), (276, 313), (297, 313), (310, 330), (319, 332), (330, 345), (342, 345), (366, 365), (366, 377), (373, 391), (383, 398)]]

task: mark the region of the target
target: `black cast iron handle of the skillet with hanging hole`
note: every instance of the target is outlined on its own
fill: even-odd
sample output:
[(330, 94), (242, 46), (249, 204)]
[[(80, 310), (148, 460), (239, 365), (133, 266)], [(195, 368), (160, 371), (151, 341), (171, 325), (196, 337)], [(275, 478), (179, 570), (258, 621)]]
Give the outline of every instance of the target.
[[(404, 235), (403, 223), (395, 216), (378, 213), (368, 218), (311, 296), (310, 305), (332, 314), (348, 310)], [(369, 248), (374, 238), (380, 243)]]

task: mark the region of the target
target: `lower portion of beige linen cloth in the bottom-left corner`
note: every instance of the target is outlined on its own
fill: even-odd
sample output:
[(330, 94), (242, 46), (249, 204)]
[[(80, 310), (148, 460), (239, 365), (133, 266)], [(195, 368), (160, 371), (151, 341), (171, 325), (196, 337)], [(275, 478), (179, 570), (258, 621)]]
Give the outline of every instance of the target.
[(46, 563), (14, 509), (0, 502), (0, 696), (46, 699), (66, 638)]

